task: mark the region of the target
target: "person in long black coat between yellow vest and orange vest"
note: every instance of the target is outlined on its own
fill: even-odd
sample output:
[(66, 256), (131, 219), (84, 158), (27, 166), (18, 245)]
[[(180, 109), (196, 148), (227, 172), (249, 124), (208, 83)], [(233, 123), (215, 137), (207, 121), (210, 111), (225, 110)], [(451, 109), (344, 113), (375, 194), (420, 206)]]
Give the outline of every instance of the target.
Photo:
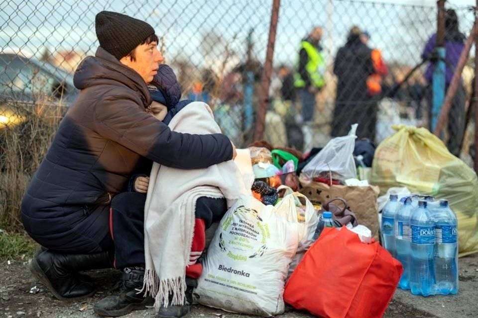
[(332, 120), (332, 136), (345, 136), (358, 123), (359, 138), (375, 138), (377, 103), (368, 95), (367, 78), (374, 73), (372, 50), (360, 41), (359, 27), (354, 26), (347, 43), (340, 48), (334, 63), (337, 96)]

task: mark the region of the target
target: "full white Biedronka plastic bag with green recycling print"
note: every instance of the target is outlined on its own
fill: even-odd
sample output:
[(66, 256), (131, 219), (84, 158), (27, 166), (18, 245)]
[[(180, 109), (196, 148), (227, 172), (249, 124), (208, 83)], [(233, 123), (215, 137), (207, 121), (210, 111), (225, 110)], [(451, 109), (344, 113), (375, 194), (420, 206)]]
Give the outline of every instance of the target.
[(282, 314), (285, 278), (298, 243), (296, 224), (278, 216), (273, 206), (242, 197), (209, 246), (196, 302), (248, 315)]

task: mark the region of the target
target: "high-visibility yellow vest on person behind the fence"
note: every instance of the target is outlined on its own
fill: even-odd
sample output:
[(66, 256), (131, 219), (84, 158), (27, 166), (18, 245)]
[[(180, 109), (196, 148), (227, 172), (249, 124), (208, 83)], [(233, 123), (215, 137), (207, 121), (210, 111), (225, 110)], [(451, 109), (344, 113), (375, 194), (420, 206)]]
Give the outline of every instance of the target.
[[(317, 50), (317, 48), (308, 41), (302, 41), (300, 46), (301, 49), (304, 49), (309, 56), (309, 62), (307, 62), (305, 69), (307, 70), (307, 73), (309, 73), (312, 85), (316, 87), (324, 86), (325, 62), (322, 53), (320, 53), (319, 50)], [(299, 69), (299, 62), (297, 62), (296, 69)], [(294, 74), (294, 86), (305, 87), (305, 81), (302, 79), (299, 73)]]

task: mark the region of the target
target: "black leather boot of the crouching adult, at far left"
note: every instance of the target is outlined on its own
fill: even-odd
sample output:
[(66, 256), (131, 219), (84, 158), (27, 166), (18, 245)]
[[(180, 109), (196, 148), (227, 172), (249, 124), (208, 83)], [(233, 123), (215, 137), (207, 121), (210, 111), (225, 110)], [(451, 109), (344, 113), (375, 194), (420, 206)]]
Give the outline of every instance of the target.
[(59, 300), (80, 300), (95, 293), (91, 278), (78, 271), (111, 267), (108, 252), (63, 254), (40, 251), (30, 263), (30, 270)]

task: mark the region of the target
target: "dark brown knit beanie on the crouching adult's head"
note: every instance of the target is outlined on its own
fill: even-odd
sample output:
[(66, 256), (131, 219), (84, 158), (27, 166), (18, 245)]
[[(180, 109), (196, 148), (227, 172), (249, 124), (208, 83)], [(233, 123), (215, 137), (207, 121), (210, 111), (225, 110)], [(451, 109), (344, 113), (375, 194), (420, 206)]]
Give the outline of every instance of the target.
[(154, 34), (148, 23), (111, 11), (101, 11), (96, 15), (95, 28), (100, 46), (118, 60)]

